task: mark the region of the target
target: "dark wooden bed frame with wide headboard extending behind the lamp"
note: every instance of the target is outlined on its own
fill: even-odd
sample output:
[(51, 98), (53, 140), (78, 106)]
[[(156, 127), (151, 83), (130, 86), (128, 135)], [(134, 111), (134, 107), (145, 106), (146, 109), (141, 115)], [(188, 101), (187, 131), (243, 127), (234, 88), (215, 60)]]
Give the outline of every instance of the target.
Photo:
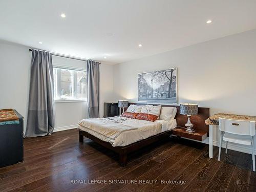
[[(148, 103), (129, 103), (129, 105), (130, 104), (146, 105)], [(158, 104), (153, 104), (153, 105), (158, 105)], [(176, 121), (177, 121), (177, 127), (178, 126), (185, 126), (185, 123), (187, 122), (187, 116), (186, 115), (181, 115), (179, 113), (180, 112), (180, 106), (177, 106), (177, 105), (164, 105), (164, 104), (162, 104), (162, 106), (173, 106), (173, 107), (177, 108), (177, 114), (175, 116)], [(194, 123), (194, 125), (196, 127), (195, 128), (196, 131), (208, 132), (209, 126), (204, 123), (204, 121), (208, 117), (209, 117), (209, 108), (198, 108), (198, 115), (191, 116), (190, 119)], [(109, 148), (110, 150), (112, 150), (112, 151), (114, 151), (114, 152), (119, 154), (119, 163), (120, 163), (121, 166), (125, 166), (126, 162), (127, 162), (127, 154), (129, 154), (131, 152), (134, 152), (134, 151), (137, 151), (137, 150), (139, 150), (140, 148), (142, 148), (144, 146), (147, 146), (147, 145), (149, 145), (151, 143), (159, 141), (162, 138), (164, 138), (166, 136), (169, 136), (169, 135), (172, 135), (172, 134), (173, 134), (173, 130), (169, 130), (169, 131), (162, 132), (162, 133), (159, 133), (157, 135), (148, 137), (146, 139), (137, 141), (137, 142), (132, 143), (130, 145), (115, 146), (114, 147), (109, 142), (102, 141), (99, 138), (97, 138), (97, 137), (95, 137), (95, 136), (93, 136), (93, 135), (91, 135), (91, 134), (89, 134), (89, 133), (87, 133), (85, 131), (79, 130), (79, 142), (83, 143), (83, 137), (87, 137), (87, 138), (95, 141), (96, 143), (98, 143), (98, 144), (100, 144), (100, 145), (102, 145), (102, 146), (104, 146), (106, 148)]]

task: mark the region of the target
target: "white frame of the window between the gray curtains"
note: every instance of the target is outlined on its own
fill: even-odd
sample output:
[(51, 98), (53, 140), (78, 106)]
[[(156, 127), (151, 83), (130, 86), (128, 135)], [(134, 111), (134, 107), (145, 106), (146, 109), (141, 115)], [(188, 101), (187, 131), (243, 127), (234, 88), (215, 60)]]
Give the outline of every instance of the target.
[[(57, 68), (57, 69), (67, 69), (67, 70), (75, 70), (75, 71), (84, 71), (84, 72), (86, 72), (86, 69), (82, 69), (82, 68), (74, 68), (74, 67), (68, 67), (68, 66), (62, 66), (62, 65), (53, 65), (53, 68)], [(74, 82), (73, 82), (73, 86), (74, 86), (74, 93), (72, 93), (72, 94), (74, 94), (74, 95), (76, 95), (76, 97), (77, 97), (77, 86), (76, 86), (76, 81), (77, 81), (77, 79), (76, 79), (76, 73), (75, 74), (73, 74), (73, 80), (74, 80)], [(60, 79), (60, 70), (58, 70), (57, 71), (57, 79)], [(60, 88), (60, 81), (56, 81), (56, 84), (58, 84), (57, 85), (57, 89), (59, 89)], [(62, 103), (62, 102), (86, 102), (87, 101), (87, 98), (86, 99), (80, 99), (80, 98), (76, 98), (76, 99), (61, 99), (60, 98), (60, 90), (57, 90), (57, 98), (59, 98), (59, 99), (55, 99), (55, 97), (54, 97), (54, 102), (55, 103)]]

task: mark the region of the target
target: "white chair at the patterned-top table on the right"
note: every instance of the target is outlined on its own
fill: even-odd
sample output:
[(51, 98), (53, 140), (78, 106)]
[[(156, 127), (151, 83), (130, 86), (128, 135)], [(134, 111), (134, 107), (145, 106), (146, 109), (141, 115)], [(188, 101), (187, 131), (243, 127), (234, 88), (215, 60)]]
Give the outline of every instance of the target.
[[(239, 143), (252, 146), (252, 164), (253, 172), (255, 172), (255, 156), (254, 156), (254, 135), (255, 121), (242, 121), (231, 120), (219, 117), (219, 132), (220, 132), (220, 146), (219, 146), (219, 158), (221, 158), (221, 145), (222, 139), (226, 141), (226, 153), (227, 143)], [(224, 133), (224, 134), (223, 134)]]

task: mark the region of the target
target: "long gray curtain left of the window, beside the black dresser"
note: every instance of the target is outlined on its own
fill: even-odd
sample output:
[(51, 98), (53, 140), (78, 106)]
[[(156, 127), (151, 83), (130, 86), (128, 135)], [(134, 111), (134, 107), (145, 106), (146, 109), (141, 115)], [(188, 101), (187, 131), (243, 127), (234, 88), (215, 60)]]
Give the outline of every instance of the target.
[(52, 134), (54, 129), (54, 92), (52, 54), (32, 50), (29, 109), (25, 137)]

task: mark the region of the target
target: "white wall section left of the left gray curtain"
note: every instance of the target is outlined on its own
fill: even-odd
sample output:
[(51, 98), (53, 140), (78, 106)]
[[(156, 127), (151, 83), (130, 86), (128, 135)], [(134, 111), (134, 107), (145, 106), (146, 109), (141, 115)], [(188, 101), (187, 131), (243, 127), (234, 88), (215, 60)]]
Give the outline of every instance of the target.
[(0, 109), (16, 109), (25, 118), (28, 109), (31, 60), (28, 49), (25, 46), (0, 41)]

